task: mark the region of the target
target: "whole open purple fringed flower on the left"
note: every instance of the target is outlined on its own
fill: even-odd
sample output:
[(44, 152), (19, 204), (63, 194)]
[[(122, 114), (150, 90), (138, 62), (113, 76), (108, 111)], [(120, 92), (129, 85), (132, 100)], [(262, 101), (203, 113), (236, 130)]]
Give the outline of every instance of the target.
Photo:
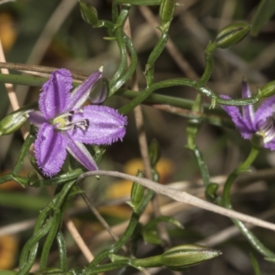
[(61, 170), (68, 151), (88, 170), (98, 170), (85, 144), (111, 144), (125, 135), (126, 117), (110, 107), (82, 107), (91, 89), (102, 77), (102, 71), (91, 74), (72, 89), (72, 76), (58, 69), (43, 85), (40, 111), (29, 113), (29, 120), (39, 127), (34, 142), (36, 163), (44, 175), (52, 177)]

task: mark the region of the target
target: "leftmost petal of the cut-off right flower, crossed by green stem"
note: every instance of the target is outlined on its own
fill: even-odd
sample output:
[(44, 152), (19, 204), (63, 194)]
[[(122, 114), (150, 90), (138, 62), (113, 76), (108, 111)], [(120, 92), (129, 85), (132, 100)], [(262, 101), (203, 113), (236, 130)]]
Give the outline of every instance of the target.
[[(229, 96), (221, 96), (221, 98), (230, 99)], [(248, 139), (252, 133), (255, 133), (250, 123), (242, 117), (241, 112), (236, 106), (221, 105), (221, 107), (230, 115), (236, 128), (241, 132), (243, 138)]]

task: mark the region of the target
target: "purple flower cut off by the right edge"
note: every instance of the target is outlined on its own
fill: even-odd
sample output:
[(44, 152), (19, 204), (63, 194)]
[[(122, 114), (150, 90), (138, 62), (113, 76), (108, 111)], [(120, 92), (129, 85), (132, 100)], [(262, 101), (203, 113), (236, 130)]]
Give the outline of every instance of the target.
[[(243, 81), (243, 98), (250, 98), (251, 91), (248, 83)], [(221, 96), (230, 99), (229, 96)], [(231, 116), (236, 128), (245, 139), (251, 135), (258, 134), (263, 137), (265, 148), (275, 150), (275, 96), (271, 96), (254, 111), (253, 105), (242, 107), (243, 114), (236, 106), (225, 106), (222, 108)]]

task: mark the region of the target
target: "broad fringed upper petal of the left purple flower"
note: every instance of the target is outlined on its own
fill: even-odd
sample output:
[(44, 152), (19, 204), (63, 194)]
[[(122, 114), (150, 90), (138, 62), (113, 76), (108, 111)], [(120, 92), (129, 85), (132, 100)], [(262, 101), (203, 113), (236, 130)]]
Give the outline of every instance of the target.
[(42, 86), (39, 109), (48, 120), (63, 113), (69, 104), (69, 91), (72, 89), (72, 75), (67, 69), (58, 69)]

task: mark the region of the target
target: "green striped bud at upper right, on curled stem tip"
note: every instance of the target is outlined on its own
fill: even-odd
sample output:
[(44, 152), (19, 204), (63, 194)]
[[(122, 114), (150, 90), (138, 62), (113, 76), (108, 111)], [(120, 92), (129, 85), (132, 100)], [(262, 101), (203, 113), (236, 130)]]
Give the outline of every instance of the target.
[(225, 49), (241, 42), (245, 36), (247, 36), (248, 32), (250, 32), (251, 28), (252, 25), (248, 23), (236, 23), (226, 26), (217, 35), (215, 41), (217, 47)]

